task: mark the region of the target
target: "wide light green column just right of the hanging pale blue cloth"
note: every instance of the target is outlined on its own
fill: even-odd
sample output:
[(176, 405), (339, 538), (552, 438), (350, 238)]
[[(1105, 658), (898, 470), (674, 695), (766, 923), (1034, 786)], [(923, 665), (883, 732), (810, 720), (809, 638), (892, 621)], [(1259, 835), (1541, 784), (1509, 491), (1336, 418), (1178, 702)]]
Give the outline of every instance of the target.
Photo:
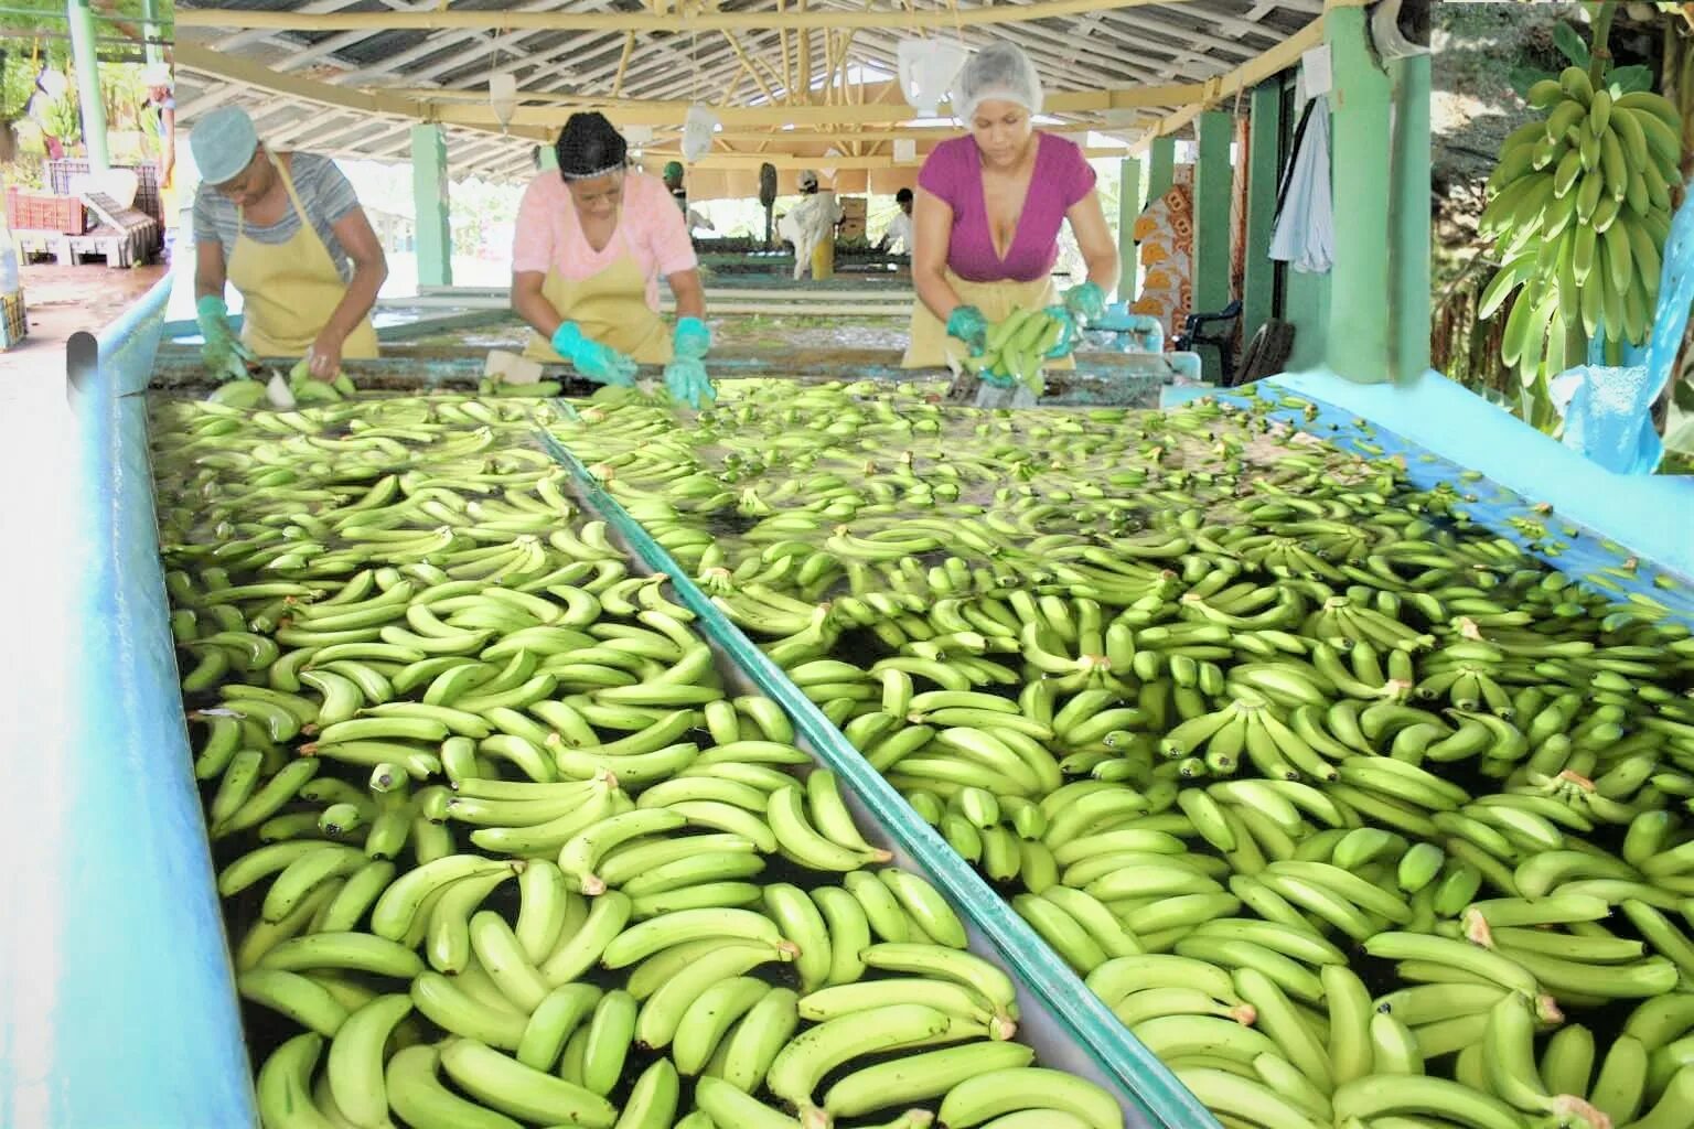
[[(1392, 379), (1389, 347), (1389, 105), (1387, 74), (1370, 51), (1367, 12), (1333, 7), (1330, 44), (1335, 267), (1330, 291), (1328, 362), (1367, 384)], [(1428, 222), (1428, 205), (1425, 205)], [(1425, 298), (1428, 301), (1428, 298)]]

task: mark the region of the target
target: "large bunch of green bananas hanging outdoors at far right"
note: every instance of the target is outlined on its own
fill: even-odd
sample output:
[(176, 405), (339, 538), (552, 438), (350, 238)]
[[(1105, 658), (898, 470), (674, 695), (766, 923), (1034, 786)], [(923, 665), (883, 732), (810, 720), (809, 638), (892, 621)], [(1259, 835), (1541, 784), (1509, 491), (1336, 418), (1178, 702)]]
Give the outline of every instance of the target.
[(1596, 88), (1569, 66), (1528, 98), (1545, 118), (1503, 144), (1477, 229), (1501, 254), (1477, 311), (1491, 317), (1518, 291), (1501, 357), (1525, 384), (1543, 364), (1553, 374), (1581, 362), (1601, 332), (1647, 339), (1682, 183), (1682, 122), (1664, 96)]

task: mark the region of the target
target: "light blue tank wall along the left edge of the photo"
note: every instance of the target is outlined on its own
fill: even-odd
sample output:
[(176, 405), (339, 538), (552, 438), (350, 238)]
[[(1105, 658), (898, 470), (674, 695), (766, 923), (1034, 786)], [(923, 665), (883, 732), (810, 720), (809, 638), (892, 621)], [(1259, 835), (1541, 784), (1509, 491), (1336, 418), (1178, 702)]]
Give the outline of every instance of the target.
[(0, 968), (3, 1126), (257, 1126), (154, 526), (141, 393), (166, 295), (76, 372), (75, 694), (59, 746), (10, 780), (37, 873), (5, 906), (34, 950)]

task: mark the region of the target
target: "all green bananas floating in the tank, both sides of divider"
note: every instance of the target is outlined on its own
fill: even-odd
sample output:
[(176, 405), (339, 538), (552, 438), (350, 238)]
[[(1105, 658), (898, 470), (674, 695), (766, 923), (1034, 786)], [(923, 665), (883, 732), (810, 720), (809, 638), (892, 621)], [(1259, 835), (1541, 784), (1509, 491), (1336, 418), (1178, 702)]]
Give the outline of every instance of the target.
[[(347, 1124), (1116, 1124), (522, 450), (530, 408), (161, 408), (241, 989), (307, 1033), (261, 1090)], [(1694, 647), (1608, 599), (1635, 565), (1577, 587), (1457, 516), (1474, 487), (1276, 405), (534, 408), (1232, 1124), (1680, 1124)], [(1560, 1039), (1540, 1090), (1508, 999)], [(1616, 1082), (1565, 1080), (1558, 1024), (1611, 1036), (1614, 1000), (1645, 1000)], [(325, 1056), (354, 1017), (374, 1060)]]

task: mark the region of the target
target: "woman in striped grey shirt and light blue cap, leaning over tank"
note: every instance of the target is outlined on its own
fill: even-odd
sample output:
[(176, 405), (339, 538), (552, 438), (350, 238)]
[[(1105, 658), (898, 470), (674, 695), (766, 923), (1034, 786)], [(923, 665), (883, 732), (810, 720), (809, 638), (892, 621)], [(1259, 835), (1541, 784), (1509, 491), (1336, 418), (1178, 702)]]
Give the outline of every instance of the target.
[[(234, 374), (252, 357), (305, 357), (313, 377), (330, 381), (344, 357), (374, 357), (369, 313), (388, 261), (335, 162), (261, 146), (239, 107), (207, 113), (188, 147), (202, 179), (195, 313), (207, 364)], [(241, 342), (229, 325), (225, 281), (241, 291)]]

